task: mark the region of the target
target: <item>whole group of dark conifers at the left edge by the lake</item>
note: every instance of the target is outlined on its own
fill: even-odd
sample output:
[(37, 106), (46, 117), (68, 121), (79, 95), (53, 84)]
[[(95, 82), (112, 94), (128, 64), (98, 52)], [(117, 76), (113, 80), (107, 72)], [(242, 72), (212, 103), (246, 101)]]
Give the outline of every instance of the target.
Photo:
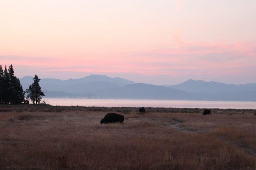
[[(38, 104), (44, 93), (39, 85), (40, 79), (37, 75), (34, 82), (25, 91), (20, 84), (19, 78), (14, 75), (13, 66), (3, 70), (0, 64), (0, 104)], [(26, 96), (26, 97), (25, 97)]]

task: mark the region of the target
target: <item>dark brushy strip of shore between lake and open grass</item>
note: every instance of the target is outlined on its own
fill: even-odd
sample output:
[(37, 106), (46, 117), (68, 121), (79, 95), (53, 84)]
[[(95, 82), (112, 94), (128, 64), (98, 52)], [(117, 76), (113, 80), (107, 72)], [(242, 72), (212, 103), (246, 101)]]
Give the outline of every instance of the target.
[[(121, 114), (138, 113), (140, 107), (100, 107), (100, 106), (58, 106), (47, 104), (0, 105), (1, 112), (116, 112)], [(212, 114), (256, 114), (256, 109), (235, 108), (177, 108), (177, 107), (145, 107), (146, 113), (191, 113), (201, 114), (210, 109)], [(146, 114), (145, 113), (145, 114)]]

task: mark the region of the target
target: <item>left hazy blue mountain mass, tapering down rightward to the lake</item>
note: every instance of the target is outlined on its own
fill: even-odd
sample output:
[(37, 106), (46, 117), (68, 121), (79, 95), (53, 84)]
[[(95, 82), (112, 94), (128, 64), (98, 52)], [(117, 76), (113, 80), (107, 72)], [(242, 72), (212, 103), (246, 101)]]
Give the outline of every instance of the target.
[[(20, 82), (25, 88), (33, 77), (24, 77)], [(135, 83), (122, 78), (105, 75), (89, 75), (81, 79), (41, 79), (40, 85), (46, 97), (53, 98), (129, 98), (129, 99), (189, 99), (183, 90), (170, 87)]]

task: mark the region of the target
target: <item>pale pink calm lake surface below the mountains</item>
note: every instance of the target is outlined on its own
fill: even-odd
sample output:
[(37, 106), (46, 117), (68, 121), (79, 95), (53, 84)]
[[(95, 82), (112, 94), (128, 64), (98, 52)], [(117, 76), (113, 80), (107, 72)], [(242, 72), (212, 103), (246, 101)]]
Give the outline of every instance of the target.
[(177, 108), (236, 108), (256, 109), (256, 102), (196, 101), (196, 100), (144, 100), (144, 99), (66, 99), (44, 98), (51, 105), (105, 106), (105, 107), (177, 107)]

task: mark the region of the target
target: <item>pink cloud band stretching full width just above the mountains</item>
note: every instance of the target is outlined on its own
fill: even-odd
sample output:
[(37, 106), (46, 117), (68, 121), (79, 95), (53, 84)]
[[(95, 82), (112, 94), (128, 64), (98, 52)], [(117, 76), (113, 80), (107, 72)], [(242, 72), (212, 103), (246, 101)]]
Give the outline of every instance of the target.
[[(256, 74), (255, 43), (183, 43), (181, 47), (120, 53), (111, 56), (47, 58), (0, 56), (3, 65), (13, 64), (19, 75), (40, 73), (49, 77), (66, 74), (140, 75), (233, 75)], [(22, 68), (22, 69), (21, 69)], [(30, 70), (30, 71), (27, 71)], [(254, 72), (252, 72), (254, 70)], [(30, 75), (31, 75), (30, 74)], [(80, 74), (82, 75), (82, 74)], [(62, 75), (62, 77), (65, 77)], [(67, 79), (70, 77), (66, 77)]]

